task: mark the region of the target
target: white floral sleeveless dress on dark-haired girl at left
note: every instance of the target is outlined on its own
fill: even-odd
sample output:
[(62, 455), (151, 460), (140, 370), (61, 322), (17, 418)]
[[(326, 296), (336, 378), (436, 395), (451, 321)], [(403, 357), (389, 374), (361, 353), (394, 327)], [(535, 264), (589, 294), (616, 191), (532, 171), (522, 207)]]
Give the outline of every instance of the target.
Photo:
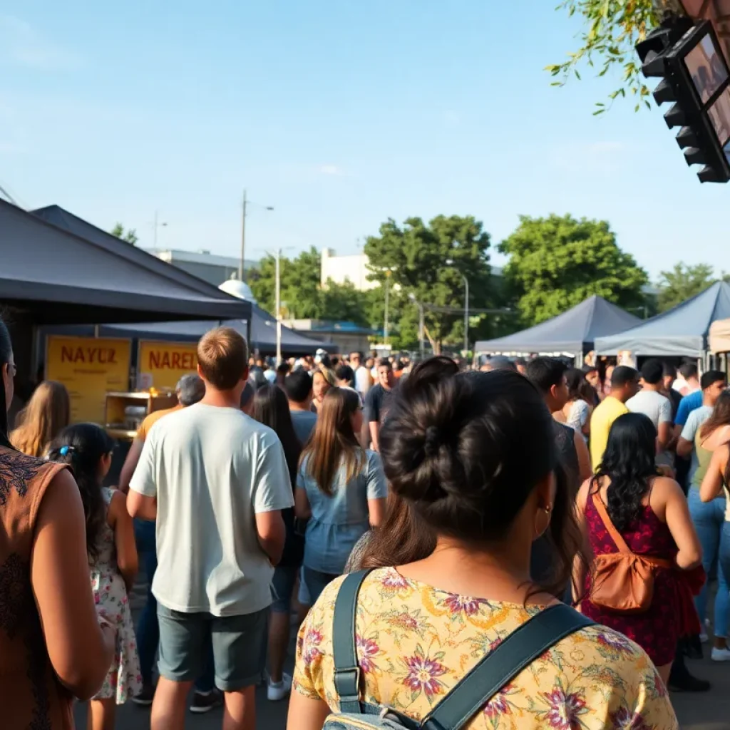
[[(104, 487), (101, 493), (108, 510), (114, 491)], [(117, 704), (124, 704), (129, 697), (142, 691), (142, 674), (127, 589), (117, 567), (114, 532), (106, 520), (99, 535), (99, 558), (91, 566), (91, 588), (96, 604), (104, 608), (107, 618), (117, 629), (117, 648), (112, 666), (104, 685), (93, 699), (115, 697)]]

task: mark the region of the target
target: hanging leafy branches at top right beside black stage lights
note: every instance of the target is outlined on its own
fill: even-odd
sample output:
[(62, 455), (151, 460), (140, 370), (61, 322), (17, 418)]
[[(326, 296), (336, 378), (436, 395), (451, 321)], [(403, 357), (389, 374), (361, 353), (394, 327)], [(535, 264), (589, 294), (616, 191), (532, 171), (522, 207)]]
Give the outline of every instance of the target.
[[(546, 67), (559, 77), (553, 85), (564, 85), (572, 75), (580, 80), (578, 67), (585, 63), (596, 69), (598, 76), (608, 72), (621, 75), (621, 85), (609, 94), (611, 100), (632, 96), (637, 111), (642, 103), (650, 107), (650, 91), (642, 81), (634, 46), (658, 26), (667, 9), (675, 6), (675, 0), (563, 0), (558, 9), (583, 16), (584, 25), (580, 47), (568, 54), (567, 61)], [(596, 115), (607, 109), (604, 103), (596, 107)]]

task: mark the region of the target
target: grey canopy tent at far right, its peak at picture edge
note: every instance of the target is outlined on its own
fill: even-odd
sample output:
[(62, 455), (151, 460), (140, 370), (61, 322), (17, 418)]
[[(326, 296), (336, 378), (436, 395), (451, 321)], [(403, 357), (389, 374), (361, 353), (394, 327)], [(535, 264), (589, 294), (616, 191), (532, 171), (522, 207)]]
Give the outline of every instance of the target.
[(701, 358), (715, 320), (730, 318), (730, 284), (717, 282), (669, 312), (611, 337), (596, 339), (599, 355), (629, 350), (634, 356)]

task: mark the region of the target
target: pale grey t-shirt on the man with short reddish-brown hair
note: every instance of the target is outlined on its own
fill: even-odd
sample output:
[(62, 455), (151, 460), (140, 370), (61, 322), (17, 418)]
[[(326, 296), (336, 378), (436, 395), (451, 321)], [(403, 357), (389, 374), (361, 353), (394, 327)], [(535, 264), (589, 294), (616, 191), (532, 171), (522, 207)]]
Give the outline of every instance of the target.
[(271, 605), (274, 569), (255, 515), (294, 504), (274, 431), (237, 408), (171, 413), (150, 429), (129, 488), (157, 498), (152, 592), (162, 605), (215, 616)]

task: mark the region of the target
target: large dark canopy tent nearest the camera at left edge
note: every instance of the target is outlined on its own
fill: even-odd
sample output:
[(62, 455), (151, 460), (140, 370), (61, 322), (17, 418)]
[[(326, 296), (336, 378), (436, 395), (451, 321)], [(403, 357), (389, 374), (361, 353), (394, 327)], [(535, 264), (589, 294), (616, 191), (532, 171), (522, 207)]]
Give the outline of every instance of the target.
[(41, 325), (250, 321), (250, 302), (99, 233), (107, 239), (81, 237), (0, 199), (0, 305), (11, 328), (18, 384), (34, 380), (34, 333)]

